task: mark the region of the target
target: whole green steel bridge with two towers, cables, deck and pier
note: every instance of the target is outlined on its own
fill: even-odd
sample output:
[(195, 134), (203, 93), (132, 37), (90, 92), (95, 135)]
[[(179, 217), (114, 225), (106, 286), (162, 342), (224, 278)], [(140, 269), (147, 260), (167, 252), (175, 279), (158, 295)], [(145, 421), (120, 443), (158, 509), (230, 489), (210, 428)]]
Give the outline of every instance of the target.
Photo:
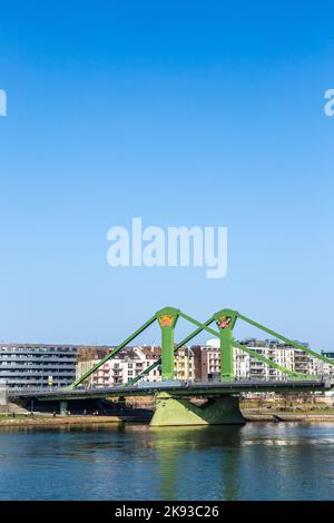
[[(193, 329), (180, 343), (175, 344), (175, 327), (179, 318), (186, 319), (196, 328)], [(17, 392), (12, 393), (13, 399), (59, 403), (60, 411), (67, 409), (69, 402), (82, 399), (102, 399), (108, 397), (129, 396), (155, 396), (156, 409), (150, 424), (153, 426), (170, 425), (208, 425), (208, 424), (238, 424), (244, 423), (239, 411), (238, 396), (247, 392), (317, 392), (326, 391), (333, 386), (328, 378), (316, 377), (305, 373), (288, 369), (275, 361), (258, 354), (256, 351), (237, 343), (233, 337), (235, 324), (244, 320), (247, 324), (281, 339), (295, 349), (301, 349), (311, 356), (328, 365), (334, 361), (312, 351), (299, 343), (289, 339), (271, 328), (247, 318), (237, 310), (223, 309), (202, 323), (174, 307), (165, 307), (158, 310), (144, 325), (121, 342), (116, 348), (108, 353), (97, 365), (79, 376), (68, 388)], [(139, 334), (144, 333), (150, 325), (158, 322), (161, 330), (161, 357), (153, 365), (143, 371), (128, 384), (117, 387), (81, 388), (84, 383), (91, 377), (106, 362), (116, 356), (128, 346)], [(216, 328), (213, 328), (213, 325)], [(193, 327), (194, 328), (194, 327)], [(207, 332), (219, 339), (220, 346), (220, 376), (218, 383), (181, 383), (175, 377), (174, 358), (175, 353), (199, 333)], [(239, 348), (250, 357), (274, 367), (285, 376), (284, 379), (269, 381), (237, 381), (234, 377), (234, 347)], [(155, 367), (160, 366), (161, 382), (158, 384), (138, 384)], [(144, 386), (143, 386), (144, 385)], [(191, 398), (205, 398), (206, 403), (198, 406)]]

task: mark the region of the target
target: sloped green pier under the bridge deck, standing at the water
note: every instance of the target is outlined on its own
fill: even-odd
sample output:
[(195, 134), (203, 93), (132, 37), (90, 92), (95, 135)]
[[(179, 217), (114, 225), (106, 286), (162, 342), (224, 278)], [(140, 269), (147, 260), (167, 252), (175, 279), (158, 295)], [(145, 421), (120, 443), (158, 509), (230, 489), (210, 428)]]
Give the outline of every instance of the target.
[(243, 425), (245, 418), (237, 396), (209, 398), (203, 406), (159, 393), (150, 426)]

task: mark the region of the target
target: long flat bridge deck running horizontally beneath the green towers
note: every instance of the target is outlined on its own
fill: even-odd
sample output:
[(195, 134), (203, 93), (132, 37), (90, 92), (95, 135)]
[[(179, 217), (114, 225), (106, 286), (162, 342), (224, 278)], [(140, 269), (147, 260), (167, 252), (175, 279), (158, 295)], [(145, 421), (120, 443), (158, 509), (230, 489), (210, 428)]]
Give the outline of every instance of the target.
[(36, 398), (42, 402), (91, 399), (120, 396), (153, 396), (160, 392), (167, 392), (177, 397), (217, 397), (247, 392), (316, 392), (326, 391), (332, 387), (328, 381), (282, 381), (282, 382), (223, 382), (223, 383), (191, 383), (181, 385), (164, 385), (164, 383), (151, 384), (147, 387), (105, 387), (88, 389), (53, 389), (38, 392), (10, 392), (12, 399)]

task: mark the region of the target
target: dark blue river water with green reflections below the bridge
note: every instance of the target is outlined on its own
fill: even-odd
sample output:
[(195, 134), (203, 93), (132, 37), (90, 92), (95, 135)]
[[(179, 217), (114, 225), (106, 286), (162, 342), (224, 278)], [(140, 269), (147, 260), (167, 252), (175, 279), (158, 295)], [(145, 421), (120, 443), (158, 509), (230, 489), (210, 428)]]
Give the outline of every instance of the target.
[(0, 500), (334, 500), (334, 424), (1, 430)]

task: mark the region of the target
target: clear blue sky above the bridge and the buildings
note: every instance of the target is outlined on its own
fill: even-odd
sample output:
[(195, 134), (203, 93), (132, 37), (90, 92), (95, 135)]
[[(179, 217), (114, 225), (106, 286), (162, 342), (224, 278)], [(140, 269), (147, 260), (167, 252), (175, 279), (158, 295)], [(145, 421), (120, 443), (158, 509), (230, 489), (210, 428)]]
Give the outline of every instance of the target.
[[(115, 344), (173, 305), (203, 319), (234, 307), (333, 349), (333, 14), (287, 0), (2, 3), (0, 339)], [(132, 216), (227, 226), (227, 277), (112, 269), (107, 230)]]

